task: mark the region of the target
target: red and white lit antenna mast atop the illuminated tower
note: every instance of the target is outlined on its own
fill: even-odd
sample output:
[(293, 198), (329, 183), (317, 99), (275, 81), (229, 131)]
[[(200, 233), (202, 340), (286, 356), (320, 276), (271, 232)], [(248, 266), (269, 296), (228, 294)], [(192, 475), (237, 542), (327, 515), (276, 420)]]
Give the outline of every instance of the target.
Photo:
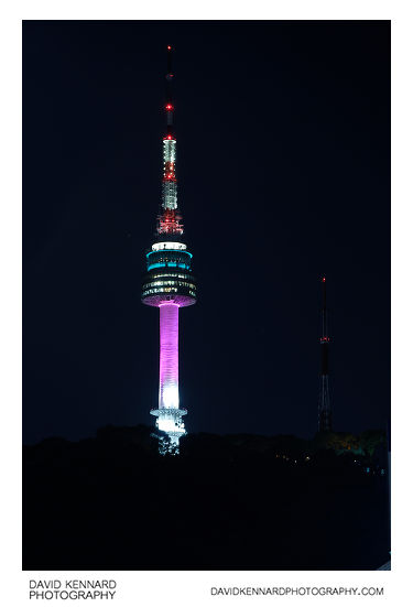
[(176, 182), (176, 138), (173, 133), (174, 104), (172, 99), (172, 46), (166, 47), (166, 134), (163, 138), (163, 177), (162, 177), (162, 210), (157, 218), (157, 234), (181, 236), (184, 227), (177, 210), (177, 182)]

